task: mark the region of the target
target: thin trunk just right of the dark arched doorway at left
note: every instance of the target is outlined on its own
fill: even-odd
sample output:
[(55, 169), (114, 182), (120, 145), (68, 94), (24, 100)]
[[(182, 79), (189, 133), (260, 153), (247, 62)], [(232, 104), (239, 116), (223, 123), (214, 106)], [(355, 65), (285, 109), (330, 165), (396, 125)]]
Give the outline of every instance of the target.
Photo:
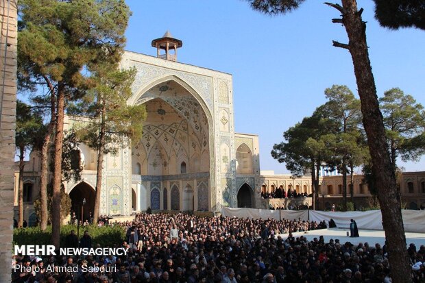
[(102, 169), (104, 164), (104, 150), (105, 150), (105, 112), (106, 104), (102, 101), (102, 112), (100, 121), (100, 132), (99, 132), (99, 149), (97, 151), (97, 173), (96, 173), (96, 198), (95, 198), (95, 211), (93, 212), (93, 221), (97, 223), (99, 219), (99, 206), (100, 206), (100, 195), (102, 186)]

